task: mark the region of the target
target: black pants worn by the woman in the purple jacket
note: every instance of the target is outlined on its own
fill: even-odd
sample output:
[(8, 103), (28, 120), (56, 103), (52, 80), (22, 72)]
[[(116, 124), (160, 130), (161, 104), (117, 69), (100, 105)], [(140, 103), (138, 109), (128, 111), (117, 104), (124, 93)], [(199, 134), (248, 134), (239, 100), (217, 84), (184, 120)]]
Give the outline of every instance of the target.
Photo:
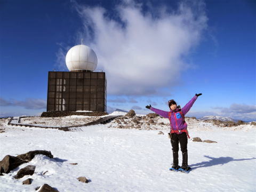
[(179, 165), (179, 143), (182, 152), (182, 166), (188, 166), (188, 138), (186, 133), (172, 133), (171, 144), (173, 154), (173, 165)]

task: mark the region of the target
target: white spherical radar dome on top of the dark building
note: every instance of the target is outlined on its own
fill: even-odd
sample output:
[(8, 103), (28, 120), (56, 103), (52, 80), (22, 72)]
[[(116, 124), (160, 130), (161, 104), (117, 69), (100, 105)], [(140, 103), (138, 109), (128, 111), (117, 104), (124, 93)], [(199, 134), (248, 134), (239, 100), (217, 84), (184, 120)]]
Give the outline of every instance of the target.
[(66, 65), (69, 71), (90, 70), (94, 71), (98, 64), (95, 52), (86, 45), (76, 45), (68, 50)]

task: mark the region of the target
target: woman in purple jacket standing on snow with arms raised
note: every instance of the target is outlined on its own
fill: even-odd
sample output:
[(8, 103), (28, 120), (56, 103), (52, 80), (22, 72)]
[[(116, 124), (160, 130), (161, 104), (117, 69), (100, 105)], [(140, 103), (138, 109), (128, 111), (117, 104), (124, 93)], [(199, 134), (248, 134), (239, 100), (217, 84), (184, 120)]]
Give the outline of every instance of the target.
[[(189, 109), (193, 106), (197, 97), (202, 95), (202, 93), (195, 94), (195, 96), (183, 107), (177, 106), (177, 103), (171, 99), (168, 101), (170, 111), (163, 111), (151, 107), (151, 105), (146, 106), (146, 108), (154, 111), (156, 114), (161, 115), (162, 117), (169, 118), (171, 126), (171, 144), (172, 144), (172, 154), (173, 154), (173, 165), (170, 170), (172, 171), (189, 171), (190, 167), (188, 166), (188, 131), (187, 123), (185, 122), (185, 115), (188, 113)], [(179, 143), (182, 152), (182, 165), (179, 166)], [(180, 169), (181, 168), (181, 169)]]

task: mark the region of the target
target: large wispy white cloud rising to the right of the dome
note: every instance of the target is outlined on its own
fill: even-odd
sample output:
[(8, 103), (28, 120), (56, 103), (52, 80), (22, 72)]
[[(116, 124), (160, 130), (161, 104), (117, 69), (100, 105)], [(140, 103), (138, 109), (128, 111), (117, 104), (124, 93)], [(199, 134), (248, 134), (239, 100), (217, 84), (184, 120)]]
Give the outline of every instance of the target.
[(180, 3), (172, 12), (149, 7), (143, 13), (133, 1), (119, 4), (111, 14), (102, 7), (75, 7), (86, 42), (98, 56), (97, 68), (107, 74), (108, 93), (116, 95), (156, 94), (177, 84), (189, 67), (184, 58), (198, 44), (207, 22), (201, 1)]

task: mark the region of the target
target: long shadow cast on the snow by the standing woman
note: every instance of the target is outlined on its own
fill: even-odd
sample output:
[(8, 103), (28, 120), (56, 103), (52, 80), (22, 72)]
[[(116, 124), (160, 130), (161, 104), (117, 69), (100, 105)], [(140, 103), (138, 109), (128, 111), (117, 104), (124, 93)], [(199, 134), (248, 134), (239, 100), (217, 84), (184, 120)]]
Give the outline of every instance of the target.
[(252, 160), (252, 159), (256, 159), (255, 157), (253, 158), (244, 158), (244, 159), (234, 159), (233, 157), (218, 157), (218, 158), (214, 158), (214, 157), (210, 157), (207, 155), (204, 155), (204, 157), (209, 158), (209, 161), (204, 161), (201, 163), (196, 163), (196, 164), (192, 164), (190, 165), (190, 167), (193, 168), (193, 170), (197, 169), (197, 168), (201, 168), (201, 167), (209, 167), (209, 166), (214, 166), (214, 165), (223, 165), (226, 163), (229, 163), (231, 161), (246, 161), (246, 160)]

